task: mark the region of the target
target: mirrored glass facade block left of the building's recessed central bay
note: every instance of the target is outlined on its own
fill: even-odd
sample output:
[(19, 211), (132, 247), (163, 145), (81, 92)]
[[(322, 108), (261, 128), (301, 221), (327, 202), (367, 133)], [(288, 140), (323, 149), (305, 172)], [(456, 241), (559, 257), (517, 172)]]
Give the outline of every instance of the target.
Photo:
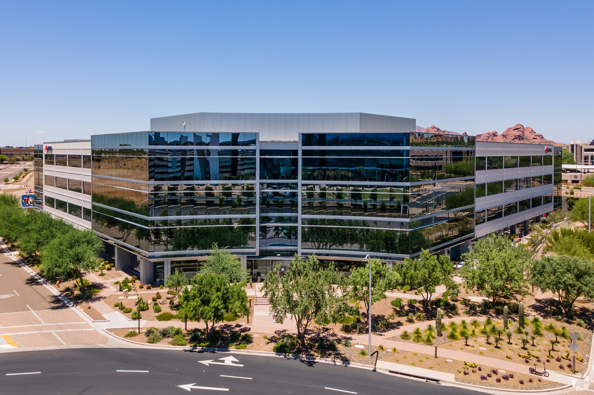
[(256, 134), (91, 137), (93, 229), (153, 256), (255, 254)]

